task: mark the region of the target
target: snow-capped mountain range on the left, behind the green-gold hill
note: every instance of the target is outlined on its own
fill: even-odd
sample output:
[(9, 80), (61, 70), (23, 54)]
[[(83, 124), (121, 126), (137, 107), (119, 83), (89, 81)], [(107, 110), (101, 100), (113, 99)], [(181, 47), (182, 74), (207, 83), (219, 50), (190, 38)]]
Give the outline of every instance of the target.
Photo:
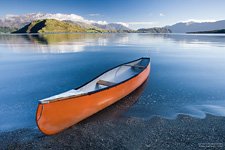
[(4, 18), (0, 18), (0, 27), (8, 28), (22, 28), (23, 26), (36, 21), (44, 19), (56, 19), (59, 21), (65, 21), (79, 25), (81, 28), (96, 29), (96, 30), (109, 30), (109, 31), (121, 31), (130, 30), (119, 23), (107, 23), (104, 21), (86, 20), (81, 16), (75, 14), (49, 14), (49, 13), (30, 13), (25, 15), (7, 15)]

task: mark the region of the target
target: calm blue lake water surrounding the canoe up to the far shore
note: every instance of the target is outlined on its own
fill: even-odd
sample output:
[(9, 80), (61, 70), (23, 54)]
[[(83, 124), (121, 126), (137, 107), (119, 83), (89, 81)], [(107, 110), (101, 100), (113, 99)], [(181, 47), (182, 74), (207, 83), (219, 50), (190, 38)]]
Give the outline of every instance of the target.
[(124, 116), (225, 116), (225, 35), (0, 35), (0, 131), (35, 127), (39, 99), (143, 56), (150, 78)]

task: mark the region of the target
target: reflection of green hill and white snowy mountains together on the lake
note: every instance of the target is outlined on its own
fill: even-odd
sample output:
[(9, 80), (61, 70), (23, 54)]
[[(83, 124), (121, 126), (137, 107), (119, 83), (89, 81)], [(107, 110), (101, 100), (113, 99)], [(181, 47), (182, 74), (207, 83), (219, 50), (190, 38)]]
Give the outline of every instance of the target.
[[(74, 53), (87, 47), (127, 44), (127, 34), (24, 34), (0, 36), (0, 44), (16, 53)], [(8, 51), (9, 52), (9, 51)]]

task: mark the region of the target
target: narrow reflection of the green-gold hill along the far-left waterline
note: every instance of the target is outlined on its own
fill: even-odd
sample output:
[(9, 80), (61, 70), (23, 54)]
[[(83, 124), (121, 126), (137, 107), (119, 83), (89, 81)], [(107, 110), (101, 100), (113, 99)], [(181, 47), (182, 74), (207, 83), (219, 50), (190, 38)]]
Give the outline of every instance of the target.
[[(125, 35), (119, 36), (123, 38)], [(71, 34), (18, 34), (18, 35), (1, 35), (0, 43), (2, 44), (40, 44), (40, 45), (51, 45), (51, 44), (61, 44), (70, 42), (101, 42), (99, 40), (107, 39), (118, 39), (118, 36), (114, 34), (81, 34), (81, 33), (71, 33)], [(107, 40), (108, 41), (108, 40)]]

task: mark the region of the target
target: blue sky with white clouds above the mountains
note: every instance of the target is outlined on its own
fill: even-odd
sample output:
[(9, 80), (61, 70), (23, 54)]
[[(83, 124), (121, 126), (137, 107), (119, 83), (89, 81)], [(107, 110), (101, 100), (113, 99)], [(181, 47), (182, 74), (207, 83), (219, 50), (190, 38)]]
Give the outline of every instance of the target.
[(137, 29), (190, 20), (224, 20), (224, 6), (225, 0), (1, 0), (0, 16), (76, 14), (87, 20), (122, 22)]

